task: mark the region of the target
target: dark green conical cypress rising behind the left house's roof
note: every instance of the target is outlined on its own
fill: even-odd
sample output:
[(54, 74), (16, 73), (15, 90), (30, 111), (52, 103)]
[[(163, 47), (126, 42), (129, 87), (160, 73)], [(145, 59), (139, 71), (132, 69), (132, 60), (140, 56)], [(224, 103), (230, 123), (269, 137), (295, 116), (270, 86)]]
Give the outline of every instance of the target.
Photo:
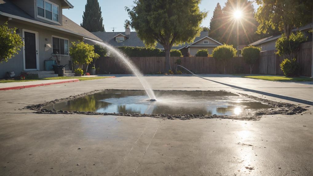
[(87, 0), (83, 23), (80, 23), (80, 26), (89, 32), (105, 32), (102, 22), (103, 18), (101, 17), (101, 7), (98, 0)]

